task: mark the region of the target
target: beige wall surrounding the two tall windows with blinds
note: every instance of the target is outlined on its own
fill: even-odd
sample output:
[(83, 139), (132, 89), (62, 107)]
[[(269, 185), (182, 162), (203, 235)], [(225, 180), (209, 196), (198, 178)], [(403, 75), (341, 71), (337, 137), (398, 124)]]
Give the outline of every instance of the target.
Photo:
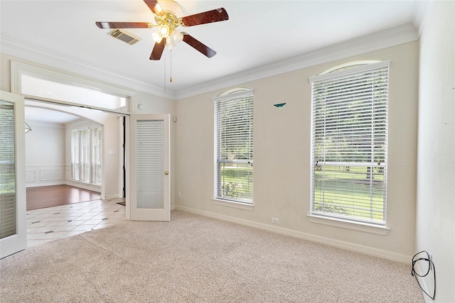
[[(255, 90), (254, 209), (213, 204), (213, 102), (223, 90), (177, 102), (176, 205), (303, 238), (409, 260), (414, 253), (417, 161), (417, 42), (240, 84)], [(386, 236), (310, 223), (309, 77), (353, 60), (390, 60)], [(230, 87), (226, 87), (230, 89)], [(273, 104), (287, 104), (281, 108)], [(273, 217), (279, 225), (272, 224)], [(277, 228), (285, 228), (279, 230)], [(343, 246), (342, 245), (342, 246)]]

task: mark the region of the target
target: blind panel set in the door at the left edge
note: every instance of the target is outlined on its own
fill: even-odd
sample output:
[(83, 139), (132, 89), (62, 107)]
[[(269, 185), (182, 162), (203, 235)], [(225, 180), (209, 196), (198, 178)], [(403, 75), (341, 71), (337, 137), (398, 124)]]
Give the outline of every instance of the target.
[(0, 238), (16, 234), (14, 104), (0, 101)]

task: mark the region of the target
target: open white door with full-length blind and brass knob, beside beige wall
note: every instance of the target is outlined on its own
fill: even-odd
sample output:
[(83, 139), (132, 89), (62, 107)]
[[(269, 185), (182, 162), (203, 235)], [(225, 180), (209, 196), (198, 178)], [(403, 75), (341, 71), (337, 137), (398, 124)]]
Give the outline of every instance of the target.
[(169, 115), (132, 115), (130, 129), (130, 219), (171, 220)]

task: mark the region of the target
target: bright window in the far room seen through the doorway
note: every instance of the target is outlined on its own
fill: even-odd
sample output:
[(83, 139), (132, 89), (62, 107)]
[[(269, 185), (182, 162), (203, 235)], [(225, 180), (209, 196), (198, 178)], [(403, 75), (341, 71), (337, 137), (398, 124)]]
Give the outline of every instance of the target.
[(86, 184), (101, 185), (101, 127), (71, 131), (71, 178)]

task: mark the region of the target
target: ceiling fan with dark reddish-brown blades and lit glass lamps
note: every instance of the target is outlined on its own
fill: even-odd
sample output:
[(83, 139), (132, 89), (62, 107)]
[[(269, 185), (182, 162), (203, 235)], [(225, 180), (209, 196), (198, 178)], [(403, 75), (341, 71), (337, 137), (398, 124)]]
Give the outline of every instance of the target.
[(99, 28), (158, 28), (158, 31), (152, 34), (155, 45), (151, 51), (150, 60), (160, 60), (166, 45), (169, 49), (172, 49), (176, 43), (182, 40), (207, 57), (213, 57), (216, 54), (215, 50), (196, 40), (188, 33), (177, 31), (176, 28), (178, 26), (198, 26), (200, 24), (228, 20), (229, 16), (225, 9), (213, 9), (179, 18), (178, 14), (182, 13), (182, 9), (176, 1), (144, 0), (144, 2), (155, 14), (156, 24), (149, 22), (96, 22), (96, 25)]

